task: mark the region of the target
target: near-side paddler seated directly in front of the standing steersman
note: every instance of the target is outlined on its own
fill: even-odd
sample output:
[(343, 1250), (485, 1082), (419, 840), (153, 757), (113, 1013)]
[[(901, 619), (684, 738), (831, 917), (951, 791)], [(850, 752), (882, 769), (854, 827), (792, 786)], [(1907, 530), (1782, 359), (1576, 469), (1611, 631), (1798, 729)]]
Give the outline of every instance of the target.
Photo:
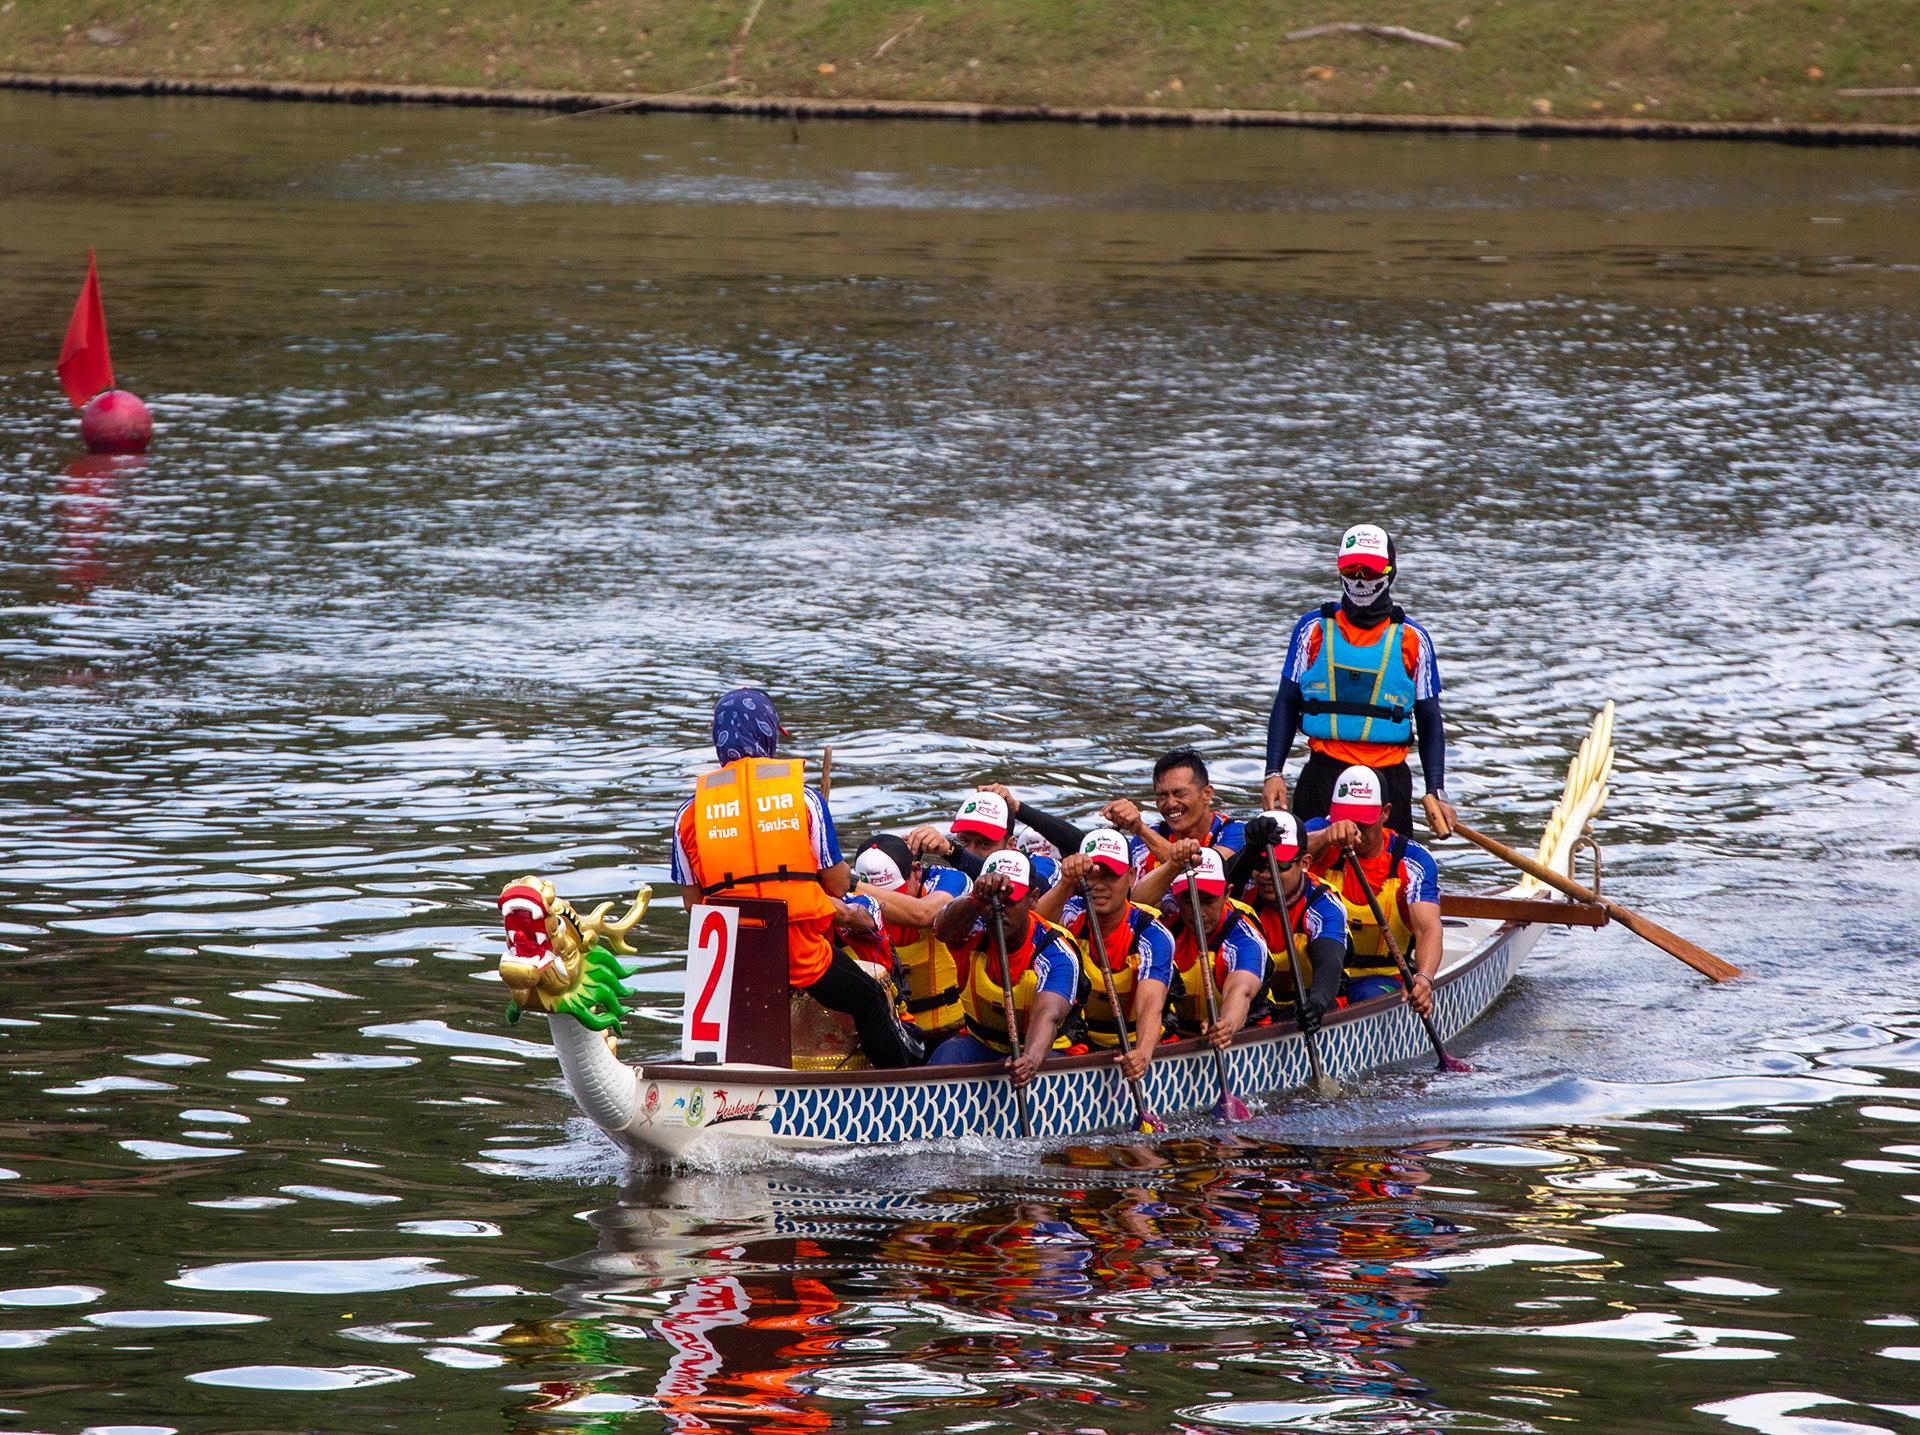
[(1380, 774), (1367, 766), (1340, 772), (1327, 816), (1308, 822), (1306, 834), (1308, 874), (1325, 882), (1346, 907), (1346, 999), (1384, 997), (1400, 991), (1402, 982), (1380, 924), (1373, 920), (1367, 893), (1342, 857), (1359, 863), (1373, 888), (1373, 899), (1386, 916), (1400, 955), (1413, 966), (1407, 1005), (1427, 1016), (1434, 1005), (1434, 974), (1440, 970), (1444, 939), (1440, 868), (1432, 853), (1411, 838), (1400, 832), (1388, 836)]

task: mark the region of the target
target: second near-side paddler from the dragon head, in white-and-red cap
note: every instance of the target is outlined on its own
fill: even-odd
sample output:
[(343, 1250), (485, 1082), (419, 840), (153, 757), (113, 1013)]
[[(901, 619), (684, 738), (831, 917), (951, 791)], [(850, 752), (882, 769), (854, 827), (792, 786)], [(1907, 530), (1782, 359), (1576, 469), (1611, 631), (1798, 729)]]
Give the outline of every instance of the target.
[[(1092, 897), (1092, 916), (1087, 914), (1087, 903), (1079, 895), (1081, 882)], [(1173, 934), (1160, 922), (1158, 909), (1135, 903), (1131, 897), (1133, 851), (1127, 838), (1114, 828), (1098, 828), (1087, 834), (1077, 853), (1060, 863), (1060, 882), (1035, 901), (1033, 911), (1073, 934), (1087, 993), (1081, 1001), (1087, 1041), (1114, 1051), (1119, 1070), (1129, 1082), (1137, 1082), (1146, 1074), (1146, 1064), (1160, 1043), (1167, 985), (1173, 982)], [(1094, 918), (1106, 941), (1104, 953), (1094, 953)], [(1114, 1020), (1106, 978), (1100, 974), (1102, 957), (1114, 976), (1114, 995), (1119, 997), (1127, 1035), (1133, 1039), (1133, 1051), (1125, 1057), (1117, 1055), (1119, 1024)]]

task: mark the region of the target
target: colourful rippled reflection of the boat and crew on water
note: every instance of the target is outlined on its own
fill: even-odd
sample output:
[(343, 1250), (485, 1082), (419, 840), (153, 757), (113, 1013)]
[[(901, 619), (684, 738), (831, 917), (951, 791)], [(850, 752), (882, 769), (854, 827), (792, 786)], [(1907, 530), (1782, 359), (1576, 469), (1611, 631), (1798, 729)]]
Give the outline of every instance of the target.
[(501, 1341), (541, 1375), (515, 1387), (522, 1429), (649, 1412), (793, 1435), (964, 1406), (1110, 1427), (1169, 1395), (1417, 1418), (1394, 1352), (1444, 1277), (1409, 1262), (1459, 1231), (1425, 1181), (1413, 1149), (1221, 1135), (1068, 1147), (1004, 1189), (655, 1174), (555, 1262), (580, 1277), (570, 1318)]

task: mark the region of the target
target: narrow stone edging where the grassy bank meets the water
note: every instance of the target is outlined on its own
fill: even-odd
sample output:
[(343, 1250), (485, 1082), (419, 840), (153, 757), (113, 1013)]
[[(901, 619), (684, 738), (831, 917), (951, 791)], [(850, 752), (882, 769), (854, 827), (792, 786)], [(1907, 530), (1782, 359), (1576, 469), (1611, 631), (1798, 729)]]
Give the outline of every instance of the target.
[(962, 100), (810, 100), (801, 96), (591, 94), (584, 90), (486, 90), (445, 85), (315, 85), (309, 81), (163, 79), (154, 75), (31, 75), (0, 71), (0, 90), (94, 96), (205, 96), (317, 104), (444, 104), (578, 113), (755, 115), (762, 119), (970, 119), (981, 123), (1158, 125), (1202, 129), (1334, 129), (1530, 138), (1770, 140), (1774, 144), (1910, 144), (1920, 125), (1841, 125), (1738, 119), (1559, 119), (1524, 115), (1367, 115), (1306, 109), (1177, 109), (1171, 106), (1006, 106)]

